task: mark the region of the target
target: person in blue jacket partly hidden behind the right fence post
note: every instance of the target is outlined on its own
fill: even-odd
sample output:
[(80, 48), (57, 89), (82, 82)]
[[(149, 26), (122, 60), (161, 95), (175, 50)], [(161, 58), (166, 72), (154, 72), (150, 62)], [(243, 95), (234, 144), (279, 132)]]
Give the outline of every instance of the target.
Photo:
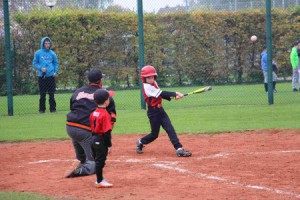
[[(261, 69), (264, 75), (264, 86), (265, 91), (268, 92), (268, 62), (267, 62), (267, 48), (265, 47), (263, 52), (261, 53)], [(273, 77), (273, 92), (277, 92), (276, 90), (276, 81), (277, 81), (277, 74), (275, 70), (277, 69), (276, 63), (272, 60), (272, 77)]]

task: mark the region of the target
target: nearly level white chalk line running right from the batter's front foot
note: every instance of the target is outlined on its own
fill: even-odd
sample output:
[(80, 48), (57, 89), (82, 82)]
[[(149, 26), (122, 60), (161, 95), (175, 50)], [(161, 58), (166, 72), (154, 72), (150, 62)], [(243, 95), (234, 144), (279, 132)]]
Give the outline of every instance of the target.
[(300, 153), (300, 150), (284, 150), (284, 151), (266, 151), (266, 152), (247, 152), (247, 153), (230, 153), (221, 152), (210, 156), (197, 157), (198, 160), (212, 159), (212, 158), (228, 158), (231, 155), (259, 155), (259, 154), (284, 154), (284, 153)]

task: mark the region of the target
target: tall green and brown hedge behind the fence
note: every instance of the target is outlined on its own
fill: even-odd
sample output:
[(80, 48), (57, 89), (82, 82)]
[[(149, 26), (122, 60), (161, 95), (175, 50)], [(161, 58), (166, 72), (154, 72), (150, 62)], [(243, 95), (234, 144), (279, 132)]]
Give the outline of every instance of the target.
[[(291, 44), (299, 39), (299, 10), (272, 10), (274, 59), (278, 75), (284, 78), (291, 74)], [(32, 59), (44, 36), (52, 38), (59, 57), (60, 88), (84, 85), (91, 68), (101, 69), (106, 83), (113, 87), (139, 85), (135, 13), (36, 10), (16, 13), (12, 19), (15, 93), (36, 93), (31, 89), (36, 88)], [(157, 68), (161, 86), (261, 82), (265, 20), (265, 11), (260, 9), (146, 14), (145, 63)], [(257, 35), (258, 41), (250, 42), (251, 35)], [(3, 56), (0, 54), (0, 60)], [(0, 76), (4, 74), (5, 67), (1, 66)], [(1, 79), (0, 88), (4, 84)]]

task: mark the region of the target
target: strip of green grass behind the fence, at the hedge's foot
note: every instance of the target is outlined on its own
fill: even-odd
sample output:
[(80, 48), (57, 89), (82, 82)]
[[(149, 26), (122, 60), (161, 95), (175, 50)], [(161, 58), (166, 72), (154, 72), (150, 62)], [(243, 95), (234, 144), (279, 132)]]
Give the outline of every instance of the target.
[[(200, 86), (199, 86), (200, 87)], [(187, 93), (199, 87), (162, 88), (168, 91)], [(274, 104), (292, 104), (299, 102), (300, 92), (291, 92), (291, 83), (277, 84), (278, 93), (274, 94)], [(69, 110), (71, 93), (56, 94), (58, 111)], [(48, 97), (47, 97), (48, 98)], [(140, 90), (120, 90), (114, 96), (118, 110), (140, 110)], [(39, 95), (13, 97), (14, 115), (37, 114)], [(213, 86), (211, 92), (186, 97), (180, 101), (164, 101), (165, 108), (181, 109), (222, 105), (268, 105), (268, 95), (262, 84)], [(47, 102), (48, 106), (48, 102)], [(0, 97), (0, 117), (7, 116), (7, 97)], [(1, 120), (1, 119), (0, 119)]]

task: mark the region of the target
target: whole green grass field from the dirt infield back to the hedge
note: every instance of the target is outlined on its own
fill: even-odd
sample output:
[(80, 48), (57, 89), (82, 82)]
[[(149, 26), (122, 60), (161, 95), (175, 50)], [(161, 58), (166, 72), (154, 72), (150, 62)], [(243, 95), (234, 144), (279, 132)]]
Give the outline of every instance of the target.
[[(194, 88), (168, 88), (183, 93)], [(274, 104), (261, 85), (218, 86), (211, 92), (191, 95), (179, 101), (164, 101), (164, 107), (179, 134), (220, 133), (257, 129), (298, 129), (300, 92), (291, 92), (290, 84), (278, 84)], [(54, 114), (19, 114), (0, 117), (0, 141), (63, 140), (71, 94), (57, 94), (59, 111)], [(26, 104), (22, 99), (26, 98)], [(146, 111), (140, 109), (140, 91), (116, 91), (117, 123), (113, 134), (148, 133)], [(37, 112), (37, 96), (14, 97), (14, 109), (26, 106)], [(1, 108), (4, 98), (1, 97)], [(21, 106), (22, 105), (22, 106)], [(63, 107), (63, 109), (61, 109)], [(63, 110), (63, 111), (60, 111)], [(162, 129), (161, 132), (164, 132)]]

